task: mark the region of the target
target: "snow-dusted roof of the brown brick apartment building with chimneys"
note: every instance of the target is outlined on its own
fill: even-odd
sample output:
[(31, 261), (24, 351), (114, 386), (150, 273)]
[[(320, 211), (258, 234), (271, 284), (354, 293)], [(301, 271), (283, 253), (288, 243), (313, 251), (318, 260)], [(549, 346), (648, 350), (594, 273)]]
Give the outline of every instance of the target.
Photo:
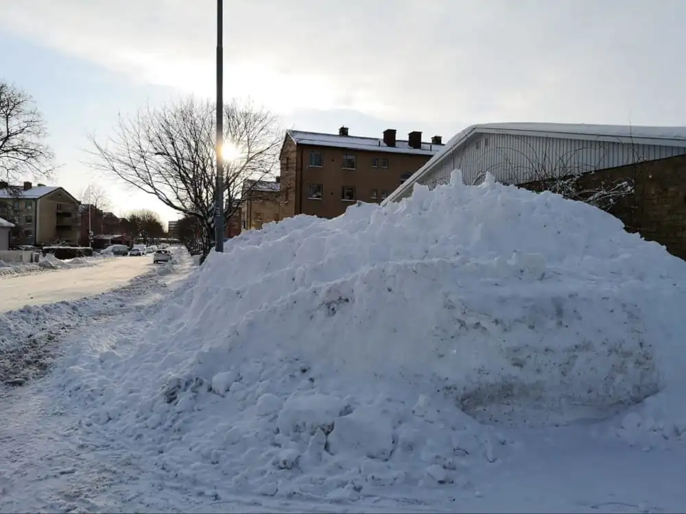
[(410, 147), (406, 140), (396, 140), (396, 145), (390, 147), (383, 143), (383, 139), (368, 138), (361, 136), (339, 136), (338, 134), (321, 134), (319, 132), (302, 132), (289, 130), (287, 134), (295, 141), (296, 145), (314, 145), (320, 147), (348, 148), (351, 150), (386, 151), (394, 154), (416, 154), (432, 156), (445, 145), (422, 143), (421, 149)]

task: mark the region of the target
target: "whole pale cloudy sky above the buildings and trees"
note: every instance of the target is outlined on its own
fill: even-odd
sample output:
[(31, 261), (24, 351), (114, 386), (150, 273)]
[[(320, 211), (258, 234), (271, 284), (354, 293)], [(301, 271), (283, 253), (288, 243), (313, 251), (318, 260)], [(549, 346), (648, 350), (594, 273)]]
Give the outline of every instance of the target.
[[(0, 0), (0, 79), (32, 95), (79, 196), (178, 214), (88, 166), (130, 116), (213, 97), (215, 0)], [(314, 132), (447, 140), (503, 121), (686, 125), (683, 0), (224, 0), (224, 97)]]

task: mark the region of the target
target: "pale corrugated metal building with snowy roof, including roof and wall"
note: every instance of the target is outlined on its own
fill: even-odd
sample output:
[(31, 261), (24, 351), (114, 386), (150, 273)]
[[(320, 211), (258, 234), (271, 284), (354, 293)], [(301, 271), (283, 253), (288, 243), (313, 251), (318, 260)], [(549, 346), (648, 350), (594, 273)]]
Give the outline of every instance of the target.
[(487, 123), (472, 125), (418, 169), (386, 201), (412, 193), (415, 183), (447, 184), (454, 169), (465, 184), (487, 172), (505, 184), (525, 184), (550, 176), (615, 168), (686, 154), (686, 127)]

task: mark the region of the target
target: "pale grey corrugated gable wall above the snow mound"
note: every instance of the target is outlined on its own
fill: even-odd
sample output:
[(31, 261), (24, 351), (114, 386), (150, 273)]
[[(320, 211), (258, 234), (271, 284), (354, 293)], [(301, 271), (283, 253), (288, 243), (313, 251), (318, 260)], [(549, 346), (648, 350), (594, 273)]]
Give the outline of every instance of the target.
[[(614, 168), (686, 154), (682, 147), (625, 144), (513, 134), (477, 134), (454, 149), (417, 182), (434, 188), (447, 184), (454, 169), (465, 184), (479, 184), (490, 171), (505, 184), (523, 184), (551, 176)], [(410, 194), (411, 191), (407, 191)], [(404, 195), (403, 195), (404, 196)]]

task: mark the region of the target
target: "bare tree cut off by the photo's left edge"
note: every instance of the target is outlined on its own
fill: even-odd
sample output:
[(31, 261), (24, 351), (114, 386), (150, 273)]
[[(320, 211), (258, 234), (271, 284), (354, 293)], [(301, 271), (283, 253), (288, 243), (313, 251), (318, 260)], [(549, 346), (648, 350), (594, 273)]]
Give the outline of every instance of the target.
[[(0, 181), (48, 178), (54, 166), (43, 114), (23, 90), (0, 82)], [(6, 187), (6, 185), (5, 185)]]

